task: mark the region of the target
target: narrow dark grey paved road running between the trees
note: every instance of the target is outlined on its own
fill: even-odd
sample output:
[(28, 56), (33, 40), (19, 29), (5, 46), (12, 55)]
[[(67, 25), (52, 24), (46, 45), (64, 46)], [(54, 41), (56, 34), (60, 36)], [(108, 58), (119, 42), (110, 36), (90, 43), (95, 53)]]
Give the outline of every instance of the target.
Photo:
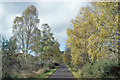
[(72, 72), (66, 67), (65, 64), (62, 64), (50, 77), (50, 78), (71, 78), (72, 80), (77, 80), (73, 76)]

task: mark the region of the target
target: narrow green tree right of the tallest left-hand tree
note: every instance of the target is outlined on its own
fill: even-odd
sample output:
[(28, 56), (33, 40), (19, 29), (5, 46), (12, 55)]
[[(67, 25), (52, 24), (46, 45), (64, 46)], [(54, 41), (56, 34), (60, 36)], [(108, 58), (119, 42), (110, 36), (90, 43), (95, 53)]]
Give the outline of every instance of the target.
[(53, 33), (51, 33), (51, 28), (49, 27), (49, 25), (43, 24), (42, 28), (43, 28), (41, 37), (42, 56), (44, 58), (43, 60), (45, 62), (48, 62), (50, 60), (48, 55), (52, 51), (52, 46), (54, 45), (55, 42)]

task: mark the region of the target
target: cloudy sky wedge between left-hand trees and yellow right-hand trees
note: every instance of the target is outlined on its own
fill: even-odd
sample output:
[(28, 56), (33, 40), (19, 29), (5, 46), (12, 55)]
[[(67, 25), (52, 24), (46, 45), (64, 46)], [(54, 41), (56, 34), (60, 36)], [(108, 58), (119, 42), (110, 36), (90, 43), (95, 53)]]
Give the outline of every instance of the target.
[(48, 23), (52, 28), (55, 38), (64, 50), (67, 40), (66, 29), (71, 27), (70, 21), (78, 14), (80, 7), (86, 3), (37, 3), (40, 24)]

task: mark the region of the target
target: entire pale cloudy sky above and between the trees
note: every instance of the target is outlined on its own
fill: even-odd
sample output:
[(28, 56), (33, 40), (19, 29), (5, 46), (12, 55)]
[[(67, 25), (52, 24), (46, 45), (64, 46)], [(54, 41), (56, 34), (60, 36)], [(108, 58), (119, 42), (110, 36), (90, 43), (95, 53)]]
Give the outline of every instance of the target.
[(67, 40), (66, 29), (72, 28), (71, 20), (74, 19), (82, 6), (88, 2), (2, 2), (0, 3), (0, 34), (9, 38), (12, 35), (13, 20), (16, 16), (21, 16), (22, 12), (30, 5), (36, 6), (40, 26), (48, 23), (52, 28), (55, 39), (60, 43), (60, 50), (65, 50)]

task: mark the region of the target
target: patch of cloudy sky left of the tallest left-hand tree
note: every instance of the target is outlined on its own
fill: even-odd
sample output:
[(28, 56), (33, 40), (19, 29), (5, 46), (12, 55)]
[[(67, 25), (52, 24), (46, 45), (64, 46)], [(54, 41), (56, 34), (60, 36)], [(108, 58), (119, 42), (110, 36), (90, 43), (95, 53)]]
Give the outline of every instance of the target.
[(0, 34), (6, 38), (12, 36), (13, 21), (16, 16), (21, 16), (22, 12), (29, 6), (35, 3), (23, 3), (23, 2), (3, 2), (2, 3), (2, 18), (0, 21)]

